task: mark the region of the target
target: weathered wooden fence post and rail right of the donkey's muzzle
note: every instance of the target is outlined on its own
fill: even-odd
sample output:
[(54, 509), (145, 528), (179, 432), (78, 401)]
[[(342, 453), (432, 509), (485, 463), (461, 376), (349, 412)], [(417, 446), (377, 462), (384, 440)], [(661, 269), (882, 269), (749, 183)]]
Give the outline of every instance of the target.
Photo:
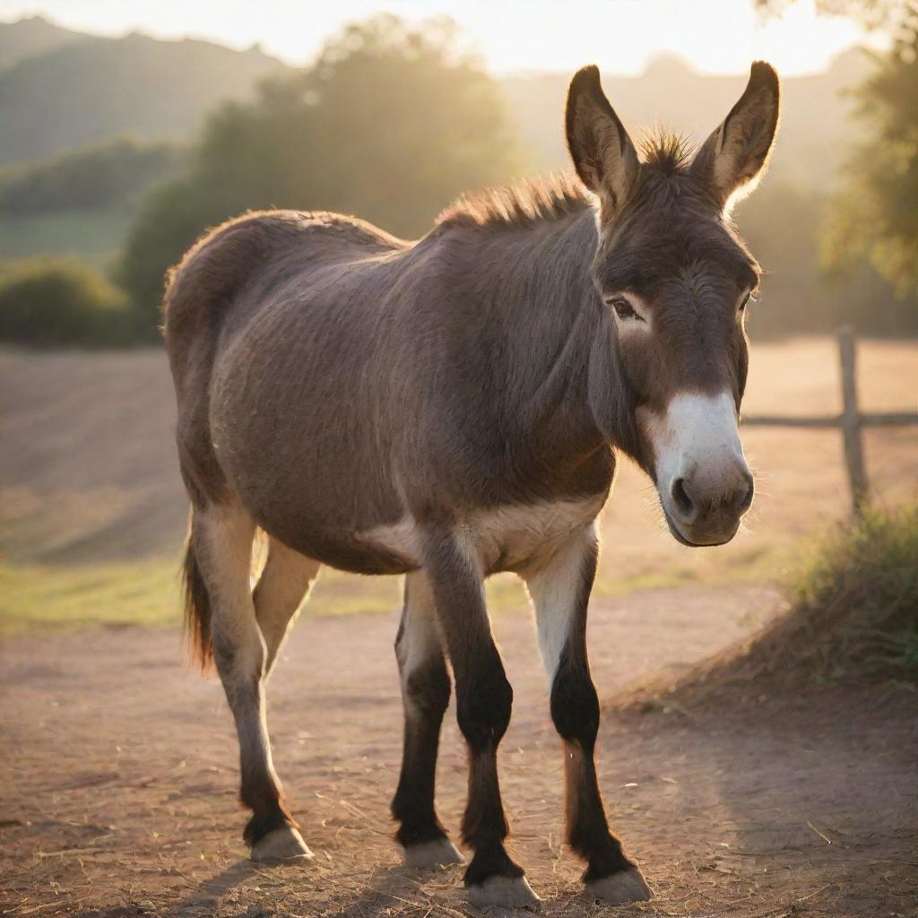
[[(812, 417), (762, 414), (744, 417), (742, 421), (750, 426), (834, 427), (840, 429), (845, 444), (845, 467), (848, 473), (848, 484), (851, 487), (851, 507), (857, 515), (867, 505), (870, 493), (861, 430), (865, 427), (918, 424), (918, 412), (863, 413), (857, 405), (857, 349), (854, 332), (849, 328), (839, 329), (835, 337), (838, 341), (838, 362), (842, 378), (841, 414)], [(915, 392), (918, 396), (918, 379), (915, 380)]]

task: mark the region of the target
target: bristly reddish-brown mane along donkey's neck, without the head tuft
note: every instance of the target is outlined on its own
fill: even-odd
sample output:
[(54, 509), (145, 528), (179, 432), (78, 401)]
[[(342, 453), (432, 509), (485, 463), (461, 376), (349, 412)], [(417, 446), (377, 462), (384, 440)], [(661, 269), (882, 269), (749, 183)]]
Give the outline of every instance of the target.
[(453, 201), (436, 226), (509, 226), (527, 228), (560, 220), (589, 207), (588, 193), (571, 174), (526, 179), (520, 185), (485, 188)]

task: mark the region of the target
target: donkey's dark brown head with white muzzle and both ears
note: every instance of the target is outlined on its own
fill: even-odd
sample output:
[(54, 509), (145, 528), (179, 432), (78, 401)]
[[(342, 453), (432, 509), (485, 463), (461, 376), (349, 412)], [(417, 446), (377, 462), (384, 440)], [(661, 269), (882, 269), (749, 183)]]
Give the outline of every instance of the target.
[(642, 160), (596, 67), (577, 73), (567, 97), (567, 144), (597, 196), (591, 272), (618, 354), (616, 397), (632, 421), (624, 445), (653, 477), (670, 531), (690, 545), (729, 542), (752, 503), (737, 418), (759, 269), (729, 209), (764, 172), (777, 127), (778, 76), (761, 62), (694, 156), (663, 138)]

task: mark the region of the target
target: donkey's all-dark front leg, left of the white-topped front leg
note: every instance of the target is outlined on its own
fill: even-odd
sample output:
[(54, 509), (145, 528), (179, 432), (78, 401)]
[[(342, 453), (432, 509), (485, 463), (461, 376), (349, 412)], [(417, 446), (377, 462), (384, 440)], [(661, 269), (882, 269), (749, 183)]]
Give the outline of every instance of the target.
[(469, 901), (479, 908), (534, 905), (538, 896), (504, 848), (509, 829), (498, 785), (498, 744), (509, 724), (513, 689), (491, 636), (476, 554), (452, 533), (431, 533), (425, 567), (453, 664), (459, 729), (468, 745), (462, 836), (475, 852), (465, 871)]

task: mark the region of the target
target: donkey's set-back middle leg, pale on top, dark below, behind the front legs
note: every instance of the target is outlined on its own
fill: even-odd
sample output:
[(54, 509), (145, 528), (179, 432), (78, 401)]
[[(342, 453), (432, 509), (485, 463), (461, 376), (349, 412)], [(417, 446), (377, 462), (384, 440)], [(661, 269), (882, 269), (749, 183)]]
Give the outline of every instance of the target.
[(405, 742), (392, 815), (399, 823), (396, 841), (405, 851), (405, 863), (417, 868), (463, 862), (433, 802), (440, 727), (450, 701), (450, 677), (435, 614), (427, 577), (420, 571), (409, 574), (396, 638)]

